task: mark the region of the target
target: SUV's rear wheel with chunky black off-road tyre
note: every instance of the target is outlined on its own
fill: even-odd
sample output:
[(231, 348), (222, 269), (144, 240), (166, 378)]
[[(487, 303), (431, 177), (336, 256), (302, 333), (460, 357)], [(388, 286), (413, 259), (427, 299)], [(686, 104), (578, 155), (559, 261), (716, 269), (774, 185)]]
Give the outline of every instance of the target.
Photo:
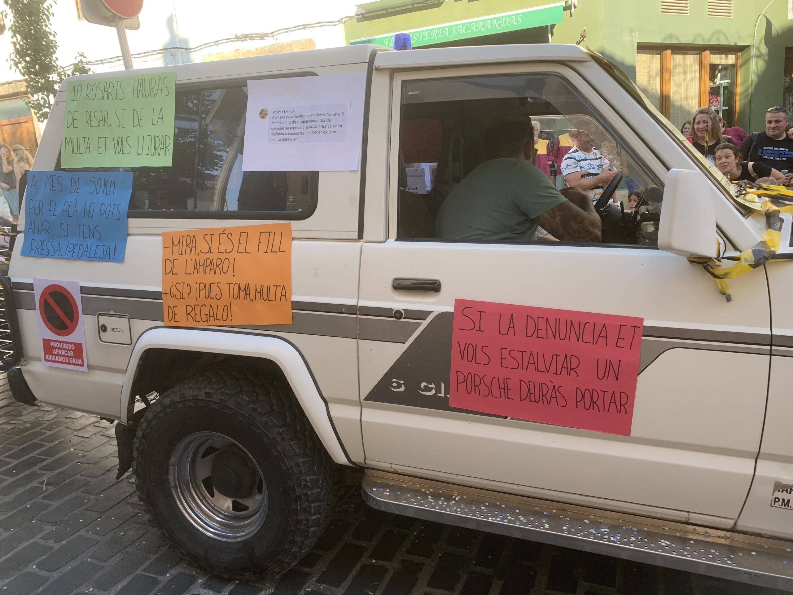
[(213, 371), (163, 393), (132, 471), (164, 539), (216, 574), (278, 576), (329, 517), (333, 463), (285, 381)]

